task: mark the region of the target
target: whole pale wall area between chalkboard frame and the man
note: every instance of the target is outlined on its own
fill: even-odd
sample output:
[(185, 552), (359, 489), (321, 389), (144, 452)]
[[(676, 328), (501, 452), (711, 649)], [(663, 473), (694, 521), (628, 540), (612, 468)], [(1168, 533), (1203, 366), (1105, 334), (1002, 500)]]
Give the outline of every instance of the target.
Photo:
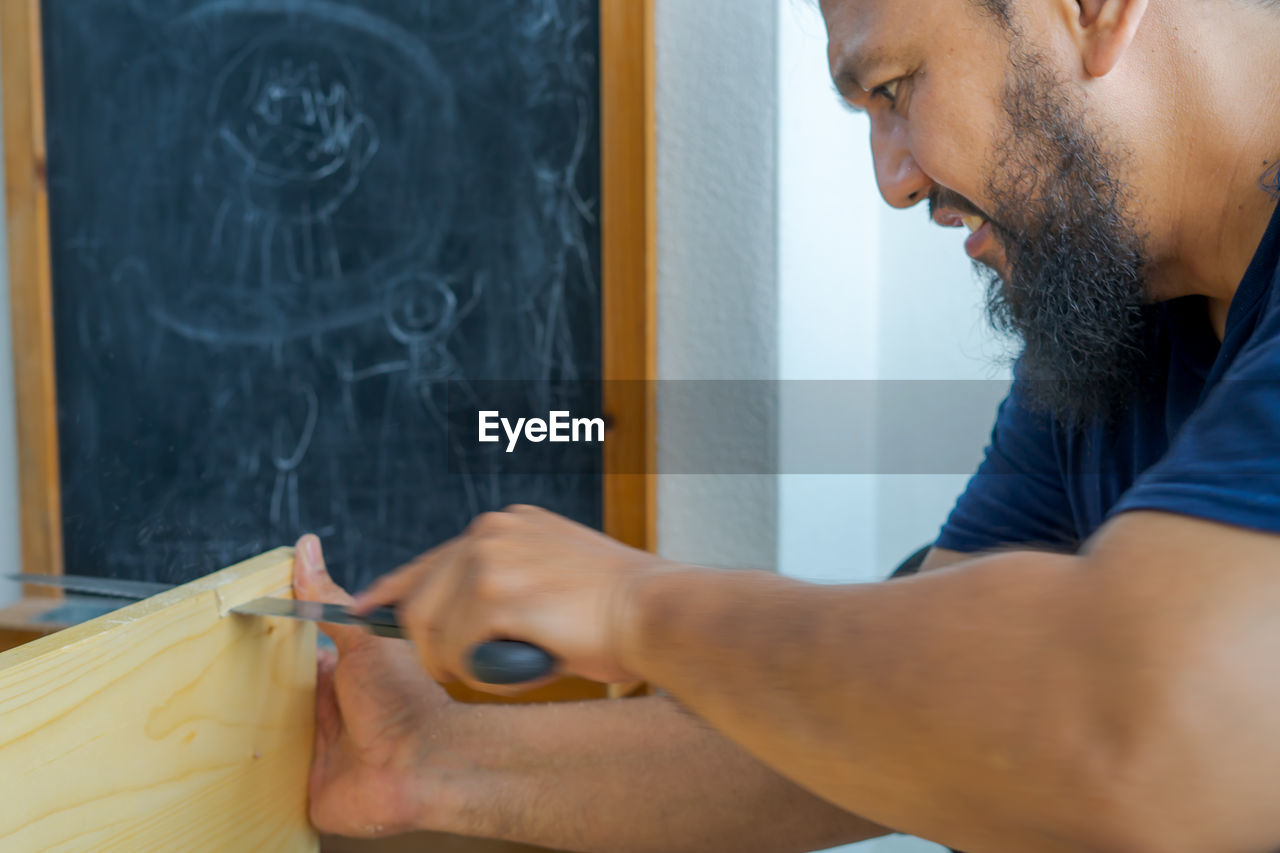
[[(800, 0), (657, 4), (663, 379), (987, 375), (961, 240), (879, 201), (865, 119), (838, 106), (824, 44)], [(786, 471), (810, 453), (812, 411), (787, 405), (788, 388), (717, 432), (731, 444), (718, 459)], [(878, 579), (933, 538), (965, 479), (682, 474), (710, 432), (705, 414), (659, 398), (659, 543), (673, 558)], [(869, 419), (868, 452), (896, 429), (874, 410), (855, 415)], [(983, 438), (954, 437), (974, 460)]]

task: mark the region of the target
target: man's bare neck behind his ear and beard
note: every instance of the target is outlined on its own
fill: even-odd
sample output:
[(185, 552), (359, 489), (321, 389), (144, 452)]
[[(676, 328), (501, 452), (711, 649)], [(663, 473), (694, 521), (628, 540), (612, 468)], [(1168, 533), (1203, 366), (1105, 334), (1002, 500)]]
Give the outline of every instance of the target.
[(1208, 15), (1206, 5), (1183, 5), (1194, 26), (1169, 35), (1174, 237), (1153, 273), (1162, 296), (1206, 296), (1221, 338), (1276, 205), (1263, 177), (1280, 159), (1280, 10), (1216, 0)]

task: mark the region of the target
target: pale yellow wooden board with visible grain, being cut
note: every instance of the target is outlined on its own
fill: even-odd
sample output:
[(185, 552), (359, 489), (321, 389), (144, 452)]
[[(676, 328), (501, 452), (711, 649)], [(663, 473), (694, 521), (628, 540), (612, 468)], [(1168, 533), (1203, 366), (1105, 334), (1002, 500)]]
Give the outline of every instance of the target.
[(0, 654), (0, 849), (316, 850), (315, 626), (280, 548)]

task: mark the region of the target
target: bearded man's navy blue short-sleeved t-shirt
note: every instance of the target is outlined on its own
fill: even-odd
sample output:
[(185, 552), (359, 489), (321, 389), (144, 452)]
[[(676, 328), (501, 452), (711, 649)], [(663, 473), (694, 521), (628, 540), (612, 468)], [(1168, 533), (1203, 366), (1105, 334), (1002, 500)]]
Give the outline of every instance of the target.
[(1280, 207), (1221, 343), (1202, 297), (1153, 307), (1155, 393), (1111, 425), (1065, 429), (1016, 378), (987, 456), (936, 544), (1075, 549), (1107, 519), (1162, 510), (1280, 533)]

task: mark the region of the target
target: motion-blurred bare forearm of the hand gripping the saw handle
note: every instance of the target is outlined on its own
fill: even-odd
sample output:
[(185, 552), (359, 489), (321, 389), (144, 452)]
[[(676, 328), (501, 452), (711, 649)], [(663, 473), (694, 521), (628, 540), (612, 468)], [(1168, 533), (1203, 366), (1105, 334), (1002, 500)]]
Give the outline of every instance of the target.
[(639, 593), (627, 663), (873, 820), (970, 849), (1080, 849), (1068, 824), (1091, 807), (1101, 744), (1075, 738), (1097, 729), (1062, 630), (1071, 560), (1002, 555), (844, 588), (659, 576)]

